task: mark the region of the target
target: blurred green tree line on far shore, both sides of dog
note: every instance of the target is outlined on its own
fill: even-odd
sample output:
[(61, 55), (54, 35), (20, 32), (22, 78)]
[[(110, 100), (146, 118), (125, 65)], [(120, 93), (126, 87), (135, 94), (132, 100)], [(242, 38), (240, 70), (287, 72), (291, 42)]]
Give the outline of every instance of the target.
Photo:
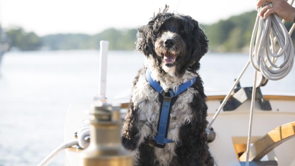
[[(248, 51), (257, 11), (232, 16), (226, 20), (200, 27), (209, 40), (209, 49), (213, 52)], [(286, 22), (290, 29), (292, 22)], [(21, 50), (39, 49), (99, 49), (100, 40), (109, 41), (110, 50), (134, 50), (137, 29), (106, 29), (101, 33), (88, 34), (52, 34), (39, 37), (34, 32), (25, 32), (21, 27), (7, 30), (11, 46)], [(295, 39), (294, 34), (291, 35)]]

